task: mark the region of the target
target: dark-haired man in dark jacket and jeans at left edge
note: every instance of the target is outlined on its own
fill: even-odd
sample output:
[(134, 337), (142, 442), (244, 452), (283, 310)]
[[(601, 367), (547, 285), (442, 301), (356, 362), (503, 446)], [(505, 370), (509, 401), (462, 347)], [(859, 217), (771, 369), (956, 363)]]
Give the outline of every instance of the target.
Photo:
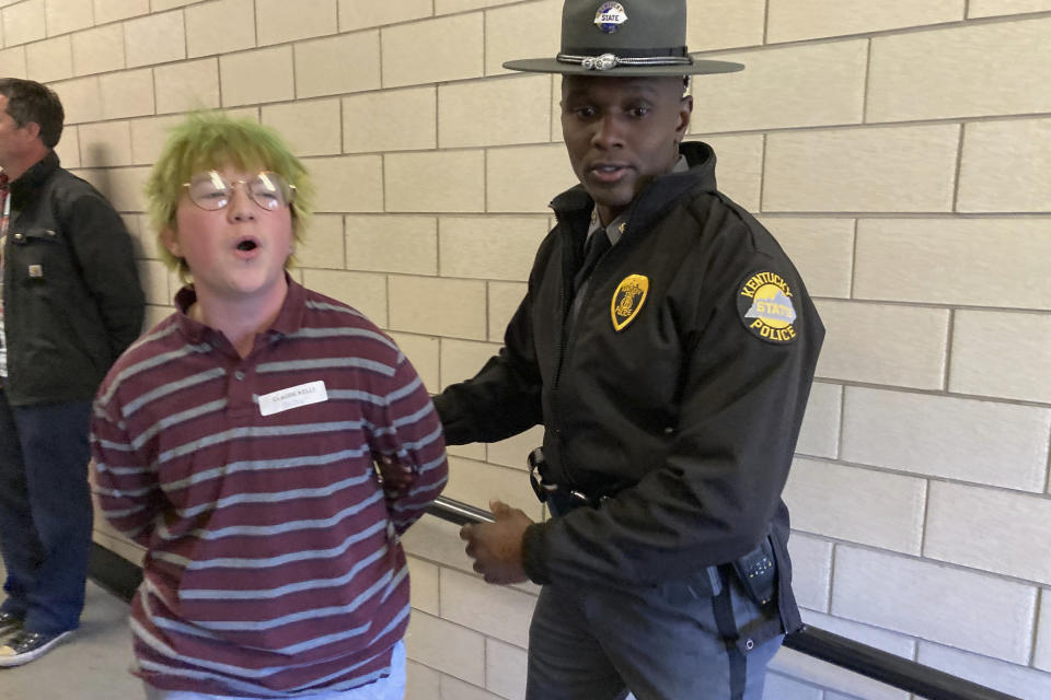
[(145, 313), (124, 222), (59, 166), (63, 117), (46, 86), (0, 80), (0, 667), (79, 625), (91, 399)]

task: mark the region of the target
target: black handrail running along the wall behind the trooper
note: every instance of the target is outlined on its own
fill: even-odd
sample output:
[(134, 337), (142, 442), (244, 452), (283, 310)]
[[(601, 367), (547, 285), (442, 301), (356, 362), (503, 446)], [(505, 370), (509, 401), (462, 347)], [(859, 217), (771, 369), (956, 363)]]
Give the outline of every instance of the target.
[[(457, 525), (493, 522), (488, 511), (443, 495), (438, 497), (427, 513)], [(809, 625), (788, 634), (785, 646), (927, 700), (1019, 700)]]

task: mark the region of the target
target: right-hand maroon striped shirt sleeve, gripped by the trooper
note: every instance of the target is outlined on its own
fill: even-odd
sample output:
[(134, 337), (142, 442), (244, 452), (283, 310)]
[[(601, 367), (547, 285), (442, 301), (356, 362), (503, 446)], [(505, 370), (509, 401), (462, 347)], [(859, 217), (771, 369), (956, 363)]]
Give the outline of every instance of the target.
[(404, 493), (388, 499), (391, 520), (401, 534), (441, 493), (449, 480), (449, 464), (435, 405), (416, 370), (404, 354), (397, 354), (389, 392), (372, 419), (372, 450), (408, 466), (416, 477)]

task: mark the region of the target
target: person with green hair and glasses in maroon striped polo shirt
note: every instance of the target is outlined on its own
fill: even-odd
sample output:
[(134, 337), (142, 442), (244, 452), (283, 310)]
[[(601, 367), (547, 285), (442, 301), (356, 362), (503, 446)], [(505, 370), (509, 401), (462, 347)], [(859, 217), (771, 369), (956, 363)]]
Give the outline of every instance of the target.
[[(192, 281), (113, 368), (92, 423), (103, 512), (147, 548), (134, 673), (150, 699), (402, 698), (399, 535), (448, 474), (419, 376), (288, 275), (311, 186), (270, 129), (190, 116), (147, 192)], [(384, 460), (412, 488), (385, 498)]]

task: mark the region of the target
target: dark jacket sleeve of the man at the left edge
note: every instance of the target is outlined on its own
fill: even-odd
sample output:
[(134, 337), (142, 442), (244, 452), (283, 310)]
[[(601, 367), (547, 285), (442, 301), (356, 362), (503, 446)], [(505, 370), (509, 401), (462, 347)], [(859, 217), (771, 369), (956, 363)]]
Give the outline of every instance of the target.
[(102, 316), (115, 361), (142, 331), (146, 300), (139, 283), (131, 236), (105, 199), (84, 194), (59, 212), (88, 293)]

